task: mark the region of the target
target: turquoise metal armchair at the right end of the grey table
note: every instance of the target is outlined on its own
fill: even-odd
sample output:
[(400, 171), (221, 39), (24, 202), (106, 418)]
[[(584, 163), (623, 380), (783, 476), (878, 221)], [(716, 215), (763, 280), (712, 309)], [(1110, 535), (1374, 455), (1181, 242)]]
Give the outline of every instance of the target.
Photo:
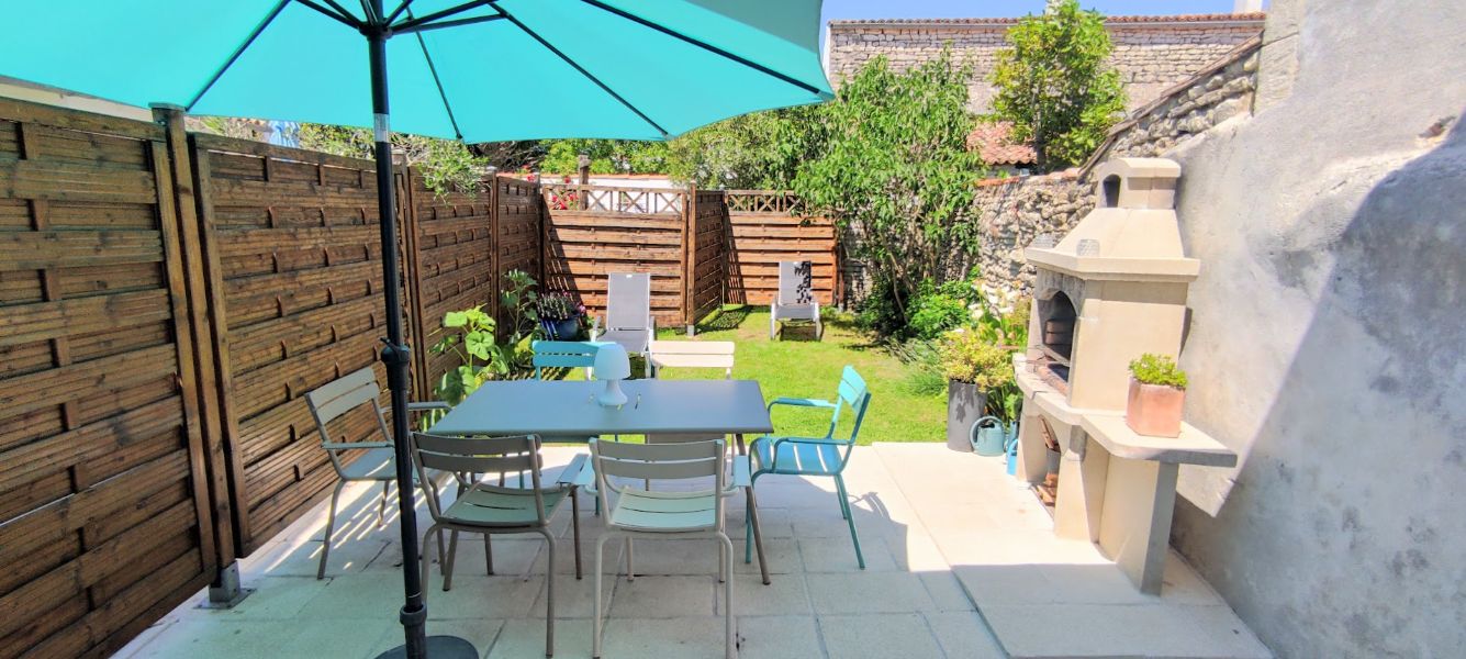
[[(749, 446), (756, 465), (749, 487), (758, 484), (758, 477), (764, 474), (828, 476), (834, 478), (834, 487), (840, 495), (840, 514), (844, 515), (846, 524), (850, 525), (850, 542), (855, 543), (855, 559), (861, 564), (861, 569), (865, 569), (865, 556), (861, 553), (861, 536), (855, 533), (855, 515), (850, 514), (850, 499), (844, 492), (844, 478), (840, 474), (844, 473), (844, 465), (850, 462), (850, 451), (855, 448), (855, 440), (861, 436), (861, 421), (865, 420), (865, 409), (869, 404), (871, 390), (865, 386), (865, 379), (855, 371), (855, 367), (847, 365), (844, 367), (844, 373), (840, 374), (840, 387), (834, 401), (777, 398), (768, 404), (770, 411), (774, 409), (774, 405), (830, 409), (830, 430), (825, 432), (824, 437), (780, 437), (765, 434), (755, 439), (752, 446)], [(850, 414), (855, 414), (855, 426), (846, 439), (834, 436), (843, 408), (850, 408)], [(745, 524), (752, 527), (752, 517)], [(751, 562), (752, 553), (754, 530), (748, 528), (743, 537), (743, 562)]]

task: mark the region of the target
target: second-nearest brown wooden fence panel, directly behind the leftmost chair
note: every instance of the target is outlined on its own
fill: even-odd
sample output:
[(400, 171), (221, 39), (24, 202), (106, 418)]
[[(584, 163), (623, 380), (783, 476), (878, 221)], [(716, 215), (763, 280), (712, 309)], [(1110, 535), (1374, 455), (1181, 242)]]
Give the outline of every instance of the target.
[[(305, 393), (366, 365), (386, 383), (375, 166), (214, 135), (195, 135), (194, 147), (210, 304), (223, 335), (233, 508), (249, 553), (336, 481)], [(374, 432), (371, 412), (358, 409), (333, 439)]]

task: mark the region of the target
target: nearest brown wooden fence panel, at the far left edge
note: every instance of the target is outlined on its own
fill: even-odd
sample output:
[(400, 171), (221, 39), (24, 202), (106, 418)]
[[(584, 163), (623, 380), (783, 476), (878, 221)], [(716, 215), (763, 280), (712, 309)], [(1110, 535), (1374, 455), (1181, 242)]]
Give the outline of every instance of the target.
[(217, 568), (167, 135), (0, 100), (0, 658), (98, 656)]

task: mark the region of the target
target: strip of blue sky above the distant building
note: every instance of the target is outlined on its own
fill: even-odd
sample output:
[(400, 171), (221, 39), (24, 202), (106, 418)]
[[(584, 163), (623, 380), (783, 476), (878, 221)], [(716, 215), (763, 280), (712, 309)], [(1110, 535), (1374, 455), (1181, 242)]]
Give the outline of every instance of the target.
[[(1080, 0), (1107, 15), (1227, 13), (1233, 0)], [(824, 19), (991, 18), (1044, 10), (1044, 0), (825, 0)]]

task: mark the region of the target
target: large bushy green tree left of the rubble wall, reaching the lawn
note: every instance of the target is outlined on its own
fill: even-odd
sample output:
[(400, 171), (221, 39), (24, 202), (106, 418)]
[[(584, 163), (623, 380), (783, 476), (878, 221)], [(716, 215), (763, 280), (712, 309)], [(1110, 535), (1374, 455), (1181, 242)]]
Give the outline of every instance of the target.
[(795, 176), (805, 203), (861, 235), (855, 255), (897, 318), (922, 282), (946, 280), (959, 251), (976, 245), (984, 163), (968, 150), (969, 75), (947, 50), (905, 73), (874, 57), (819, 109), (821, 153)]

